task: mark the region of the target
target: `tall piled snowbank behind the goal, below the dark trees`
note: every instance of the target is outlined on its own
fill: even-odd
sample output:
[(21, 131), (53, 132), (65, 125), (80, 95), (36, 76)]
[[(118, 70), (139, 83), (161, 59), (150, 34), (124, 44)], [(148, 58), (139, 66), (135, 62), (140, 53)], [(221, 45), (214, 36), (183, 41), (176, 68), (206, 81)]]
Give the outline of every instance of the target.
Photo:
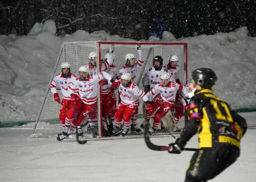
[[(61, 44), (67, 41), (135, 41), (104, 31), (55, 36), (53, 21), (36, 23), (27, 36), (0, 35), (0, 121), (35, 120), (51, 79)], [(256, 105), (256, 37), (245, 27), (230, 33), (176, 40), (164, 32), (163, 40), (188, 42), (188, 73), (210, 67), (218, 75), (217, 94), (233, 108)], [(146, 41), (146, 40), (141, 40)], [(190, 77), (189, 77), (190, 78)]]

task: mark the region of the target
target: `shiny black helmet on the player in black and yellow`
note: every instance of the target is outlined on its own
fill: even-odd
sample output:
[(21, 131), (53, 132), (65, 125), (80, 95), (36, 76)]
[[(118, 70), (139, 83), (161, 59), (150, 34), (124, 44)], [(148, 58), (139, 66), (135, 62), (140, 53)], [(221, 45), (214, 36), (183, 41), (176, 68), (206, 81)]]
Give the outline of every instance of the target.
[(192, 79), (196, 84), (200, 85), (202, 88), (212, 89), (213, 85), (217, 81), (217, 75), (210, 68), (198, 68), (193, 70)]

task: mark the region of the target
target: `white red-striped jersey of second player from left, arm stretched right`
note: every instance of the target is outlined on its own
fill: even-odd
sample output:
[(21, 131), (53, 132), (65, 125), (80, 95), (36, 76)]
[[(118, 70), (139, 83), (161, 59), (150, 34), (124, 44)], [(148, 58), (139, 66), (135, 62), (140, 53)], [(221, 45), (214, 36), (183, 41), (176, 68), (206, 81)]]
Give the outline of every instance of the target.
[(86, 80), (81, 80), (79, 77), (74, 83), (71, 83), (68, 88), (73, 93), (77, 94), (83, 103), (91, 105), (96, 102), (98, 94), (98, 82), (100, 80), (111, 80), (111, 77), (106, 72), (90, 75)]

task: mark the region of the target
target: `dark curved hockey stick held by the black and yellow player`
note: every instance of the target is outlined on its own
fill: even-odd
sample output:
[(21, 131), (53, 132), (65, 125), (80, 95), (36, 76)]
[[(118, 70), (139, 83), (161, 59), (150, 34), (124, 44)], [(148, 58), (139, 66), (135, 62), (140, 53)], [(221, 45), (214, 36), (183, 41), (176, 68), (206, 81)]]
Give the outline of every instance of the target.
[[(149, 138), (149, 123), (145, 124), (145, 129), (144, 129), (144, 139), (145, 139), (145, 143), (147, 145), (147, 147), (151, 150), (155, 150), (155, 151), (168, 151), (170, 149), (172, 149), (172, 147), (170, 146), (160, 146), (160, 145), (154, 145)], [(194, 149), (194, 148), (184, 148), (183, 150), (186, 151), (197, 151), (198, 149)]]

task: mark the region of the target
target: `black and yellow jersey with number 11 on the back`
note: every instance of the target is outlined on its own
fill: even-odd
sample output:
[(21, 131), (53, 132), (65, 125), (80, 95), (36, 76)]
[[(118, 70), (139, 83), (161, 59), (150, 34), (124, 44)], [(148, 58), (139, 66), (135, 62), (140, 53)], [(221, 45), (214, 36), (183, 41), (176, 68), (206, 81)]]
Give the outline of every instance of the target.
[(210, 89), (200, 90), (191, 98), (189, 116), (181, 139), (188, 141), (198, 131), (199, 148), (221, 145), (240, 148), (240, 140), (247, 129), (245, 119)]

